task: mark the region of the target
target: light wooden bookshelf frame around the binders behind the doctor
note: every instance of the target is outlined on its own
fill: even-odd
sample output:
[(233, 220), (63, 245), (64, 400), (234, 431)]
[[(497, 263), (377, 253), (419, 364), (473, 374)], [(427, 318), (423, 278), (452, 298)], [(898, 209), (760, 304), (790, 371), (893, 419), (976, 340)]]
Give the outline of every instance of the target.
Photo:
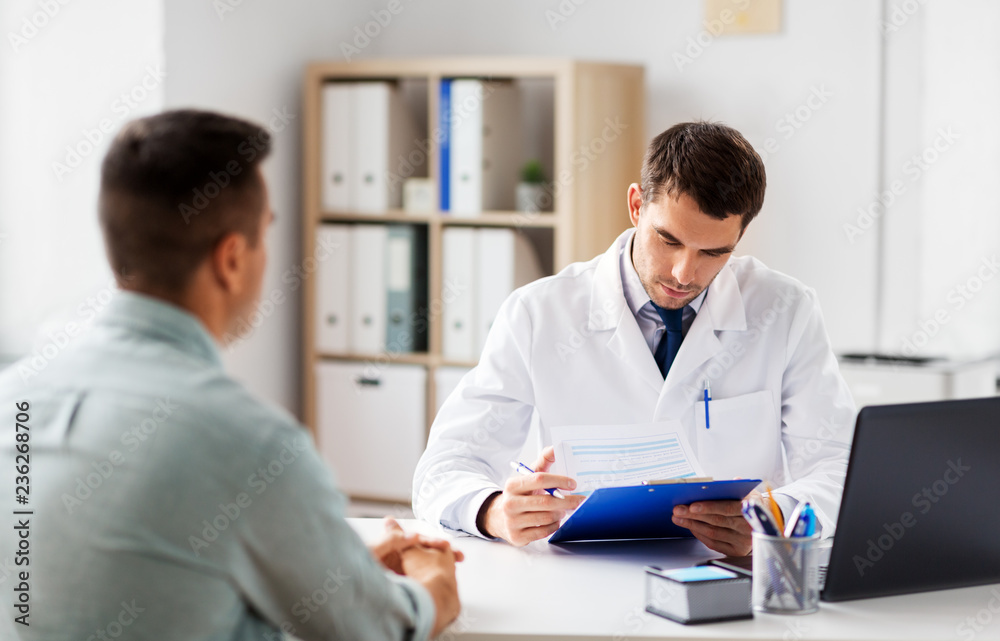
[[(315, 62), (305, 71), (303, 87), (303, 256), (313, 256), (316, 233), (328, 223), (424, 226), (427, 230), (428, 314), (426, 352), (378, 354), (318, 350), (316, 345), (317, 273), (309, 273), (303, 292), (303, 414), (322, 450), (317, 427), (317, 367), (324, 363), (359, 363), (384, 367), (426, 368), (424, 438), (436, 413), (436, 370), (472, 367), (471, 361), (450, 361), (442, 354), (442, 314), (433, 302), (442, 297), (442, 237), (449, 227), (519, 230), (535, 246), (546, 271), (552, 273), (602, 253), (629, 226), (626, 189), (639, 179), (645, 150), (645, 90), (641, 66), (562, 58), (455, 57), (367, 60), (350, 63)], [(323, 88), (328, 83), (389, 81), (407, 88), (408, 109), (421, 123), (427, 145), (426, 177), (440, 184), (440, 149), (432, 133), (439, 123), (442, 79), (476, 78), (522, 83), (524, 137), (531, 153), (546, 165), (550, 211), (483, 211), (459, 217), (448, 212), (410, 213), (403, 209), (378, 212), (329, 211), (322, 206)], [(351, 274), (356, 278), (356, 274)], [(349, 415), (350, 408), (344, 408)], [(331, 410), (327, 410), (331, 411)], [(355, 417), (356, 418), (356, 417)], [(357, 429), (364, 429), (358, 427)], [(377, 466), (378, 461), (370, 461)], [(412, 470), (410, 470), (412, 473)], [(365, 490), (348, 490), (355, 498), (403, 500)]]

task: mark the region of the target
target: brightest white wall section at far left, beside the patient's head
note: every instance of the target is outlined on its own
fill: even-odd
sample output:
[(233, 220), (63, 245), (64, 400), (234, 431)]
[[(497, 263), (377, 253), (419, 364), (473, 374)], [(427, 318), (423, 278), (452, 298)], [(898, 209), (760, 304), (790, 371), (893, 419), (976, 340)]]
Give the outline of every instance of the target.
[(110, 296), (100, 161), (163, 103), (159, 0), (45, 5), (0, 3), (0, 355), (39, 368)]

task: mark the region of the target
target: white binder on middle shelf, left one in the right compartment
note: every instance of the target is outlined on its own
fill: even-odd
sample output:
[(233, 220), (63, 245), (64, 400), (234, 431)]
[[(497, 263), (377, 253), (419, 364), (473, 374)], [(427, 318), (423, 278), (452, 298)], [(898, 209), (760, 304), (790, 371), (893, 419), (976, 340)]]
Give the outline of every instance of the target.
[(469, 362), (475, 349), (476, 286), (475, 230), (447, 227), (442, 232), (443, 328), (441, 352), (445, 360)]

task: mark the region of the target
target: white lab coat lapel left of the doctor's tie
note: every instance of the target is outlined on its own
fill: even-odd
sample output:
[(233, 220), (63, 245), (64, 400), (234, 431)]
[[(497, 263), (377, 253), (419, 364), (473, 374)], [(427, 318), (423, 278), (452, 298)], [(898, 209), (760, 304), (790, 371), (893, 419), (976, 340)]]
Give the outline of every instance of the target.
[(632, 231), (630, 229), (620, 235), (597, 264), (590, 295), (588, 327), (592, 331), (614, 330), (607, 343), (608, 349), (621, 359), (626, 369), (634, 371), (653, 391), (659, 393), (663, 387), (663, 376), (622, 289), (619, 256)]

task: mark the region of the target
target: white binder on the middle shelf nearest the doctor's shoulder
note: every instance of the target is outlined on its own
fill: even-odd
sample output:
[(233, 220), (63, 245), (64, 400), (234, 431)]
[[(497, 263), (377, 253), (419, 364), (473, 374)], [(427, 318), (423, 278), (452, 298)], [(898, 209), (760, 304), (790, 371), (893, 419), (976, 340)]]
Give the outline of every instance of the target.
[(504, 228), (476, 231), (476, 343), (478, 358), (497, 312), (518, 287), (545, 273), (534, 245), (523, 234)]

